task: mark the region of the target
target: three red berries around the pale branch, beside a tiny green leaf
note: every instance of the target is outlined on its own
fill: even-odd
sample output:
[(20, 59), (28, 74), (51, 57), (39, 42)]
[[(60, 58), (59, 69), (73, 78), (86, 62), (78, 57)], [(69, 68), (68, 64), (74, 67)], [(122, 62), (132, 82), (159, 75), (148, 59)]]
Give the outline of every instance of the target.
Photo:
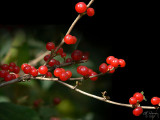
[(143, 109), (140, 107), (140, 102), (142, 102), (144, 96), (142, 93), (136, 92), (133, 97), (129, 99), (129, 103), (133, 105), (135, 108), (133, 110), (133, 115), (140, 116), (143, 113)]

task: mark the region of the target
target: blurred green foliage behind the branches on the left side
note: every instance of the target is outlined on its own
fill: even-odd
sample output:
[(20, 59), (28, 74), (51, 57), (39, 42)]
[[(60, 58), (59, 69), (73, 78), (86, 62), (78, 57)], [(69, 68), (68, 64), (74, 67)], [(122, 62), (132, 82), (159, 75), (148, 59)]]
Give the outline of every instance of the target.
[[(23, 26), (12, 29), (0, 28), (0, 61), (3, 63), (15, 62), (18, 66), (28, 63), (38, 55), (46, 51), (45, 44), (49, 41), (58, 45), (68, 26), (45, 25)], [(87, 67), (98, 72), (98, 66), (105, 62), (106, 56), (111, 55), (110, 47), (96, 46), (80, 30), (74, 29), (72, 34), (78, 39), (75, 45), (64, 45), (67, 58), (74, 49), (88, 51), (89, 61), (83, 63)], [(86, 39), (87, 38), (87, 39)], [(96, 47), (96, 49), (95, 49)], [(63, 62), (61, 57), (55, 59)], [(36, 67), (43, 64), (42, 60)], [(79, 64), (80, 65), (80, 64)], [(79, 77), (76, 72), (78, 65), (64, 67), (71, 70), (73, 77)], [(75, 82), (68, 82), (75, 85)], [(86, 80), (78, 88), (89, 93), (101, 96), (102, 91), (111, 94), (111, 75), (99, 77), (95, 82)], [(53, 104), (53, 99), (59, 97), (61, 103)], [(42, 99), (42, 103), (35, 108), (33, 103)], [(61, 120), (103, 120), (104, 116), (111, 116), (110, 105), (94, 100), (70, 90), (52, 81), (35, 81), (15, 83), (0, 88), (0, 120), (49, 120), (51, 117), (59, 117)], [(107, 112), (106, 112), (107, 111)]]

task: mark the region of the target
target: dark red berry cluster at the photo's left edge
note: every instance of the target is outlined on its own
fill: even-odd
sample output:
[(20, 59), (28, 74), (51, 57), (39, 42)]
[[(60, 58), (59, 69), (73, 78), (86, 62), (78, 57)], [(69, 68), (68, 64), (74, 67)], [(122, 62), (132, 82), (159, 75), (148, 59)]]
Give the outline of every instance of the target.
[(0, 68), (0, 77), (4, 78), (5, 81), (10, 81), (19, 77), (18, 73), (20, 68), (16, 66), (14, 62), (11, 62), (9, 65), (2, 64)]

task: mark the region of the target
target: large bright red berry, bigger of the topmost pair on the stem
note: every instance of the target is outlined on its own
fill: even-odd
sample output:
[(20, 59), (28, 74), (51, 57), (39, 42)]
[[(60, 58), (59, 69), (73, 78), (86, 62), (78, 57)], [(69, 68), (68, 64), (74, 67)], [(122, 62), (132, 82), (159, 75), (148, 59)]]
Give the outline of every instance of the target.
[(78, 13), (84, 13), (87, 10), (87, 5), (84, 2), (79, 2), (75, 5), (75, 10)]

